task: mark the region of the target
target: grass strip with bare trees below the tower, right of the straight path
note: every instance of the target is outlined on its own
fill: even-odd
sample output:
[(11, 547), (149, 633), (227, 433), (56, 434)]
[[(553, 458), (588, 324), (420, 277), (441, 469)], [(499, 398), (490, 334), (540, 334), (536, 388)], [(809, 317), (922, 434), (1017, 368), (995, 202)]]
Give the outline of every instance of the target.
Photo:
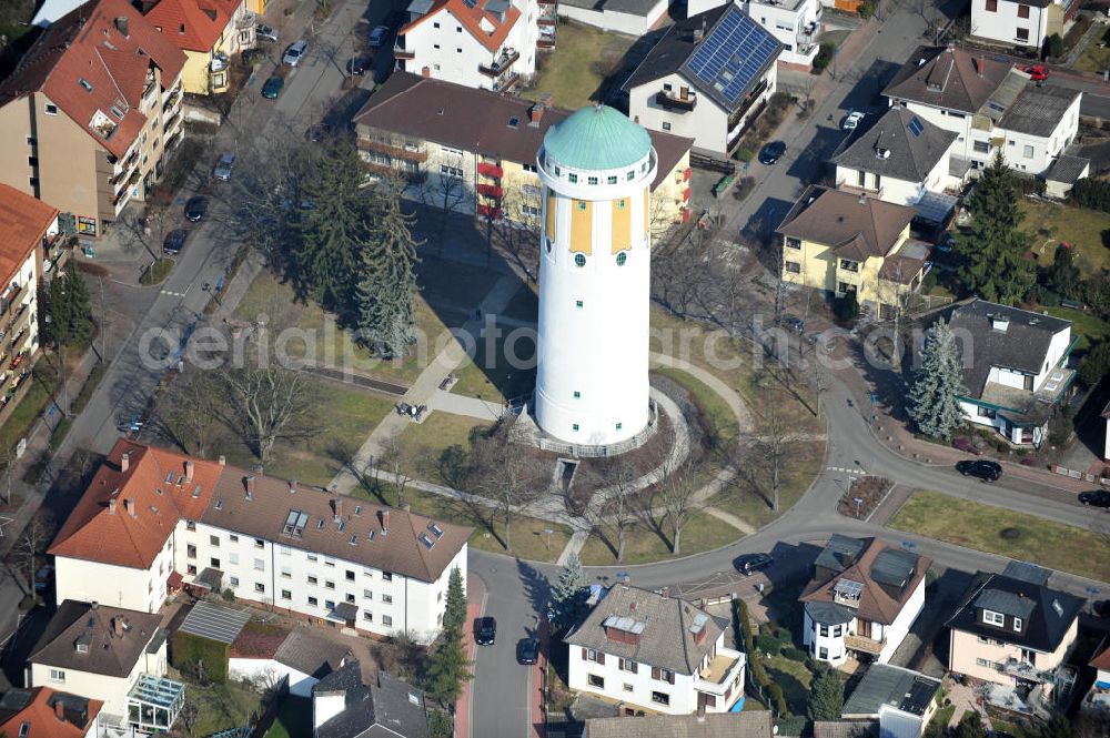
[[(683, 528), (683, 547), (679, 554), (690, 556), (720, 548), (743, 535), (724, 520), (706, 513), (695, 513)], [(608, 536), (608, 543), (603, 536)], [(582, 548), (582, 563), (587, 566), (613, 566), (617, 563), (613, 550), (616, 548), (616, 536), (612, 532), (595, 529)], [(670, 543), (672, 528), (668, 523), (663, 523), (662, 536), (654, 529), (637, 524), (627, 533), (622, 564), (646, 564), (672, 558), (674, 554), (670, 550)]]

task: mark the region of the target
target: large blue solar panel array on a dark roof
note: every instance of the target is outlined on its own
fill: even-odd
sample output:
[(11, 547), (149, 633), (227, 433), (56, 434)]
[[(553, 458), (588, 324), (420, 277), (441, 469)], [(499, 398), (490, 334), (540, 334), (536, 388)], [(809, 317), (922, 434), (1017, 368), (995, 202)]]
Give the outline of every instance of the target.
[(774, 37), (734, 7), (700, 42), (686, 67), (735, 104), (777, 49)]

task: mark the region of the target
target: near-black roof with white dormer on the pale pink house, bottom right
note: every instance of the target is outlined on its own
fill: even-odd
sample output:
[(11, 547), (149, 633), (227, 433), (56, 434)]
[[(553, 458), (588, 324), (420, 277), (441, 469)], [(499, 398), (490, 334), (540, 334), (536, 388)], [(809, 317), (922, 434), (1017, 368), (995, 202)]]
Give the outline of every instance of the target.
[[(1025, 597), (1033, 605), (1025, 619), (1021, 633), (982, 621), (976, 603), (980, 593), (988, 589)], [(1067, 593), (1002, 574), (979, 572), (960, 598), (959, 607), (948, 618), (947, 626), (953, 630), (995, 638), (1019, 647), (1052, 653), (1060, 646), (1071, 624), (1079, 617), (1082, 606), (1083, 599)]]

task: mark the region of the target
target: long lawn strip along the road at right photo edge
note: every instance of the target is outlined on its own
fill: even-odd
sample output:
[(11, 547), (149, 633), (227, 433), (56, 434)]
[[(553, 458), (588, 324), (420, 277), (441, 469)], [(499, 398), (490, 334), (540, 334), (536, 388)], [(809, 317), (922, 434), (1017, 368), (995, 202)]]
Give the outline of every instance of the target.
[[(936, 492), (915, 492), (889, 525), (1093, 579), (1110, 572), (1110, 546), (1098, 533)], [(1020, 536), (1002, 538), (1006, 528)]]

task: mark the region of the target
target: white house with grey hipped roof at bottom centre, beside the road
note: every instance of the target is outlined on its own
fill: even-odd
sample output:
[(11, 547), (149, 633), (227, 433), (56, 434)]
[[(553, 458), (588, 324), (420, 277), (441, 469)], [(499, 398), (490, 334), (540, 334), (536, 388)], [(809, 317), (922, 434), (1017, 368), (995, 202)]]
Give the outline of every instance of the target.
[(708, 613), (675, 597), (615, 585), (564, 641), (567, 686), (627, 715), (727, 712), (744, 697), (744, 654), (725, 646)]

